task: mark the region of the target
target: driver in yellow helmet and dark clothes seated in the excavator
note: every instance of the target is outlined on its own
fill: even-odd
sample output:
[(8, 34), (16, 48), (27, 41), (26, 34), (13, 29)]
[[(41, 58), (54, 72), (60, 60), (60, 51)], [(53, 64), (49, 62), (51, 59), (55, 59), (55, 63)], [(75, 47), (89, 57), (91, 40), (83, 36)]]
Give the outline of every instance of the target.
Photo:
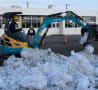
[(18, 29), (18, 24), (16, 22), (17, 22), (17, 16), (13, 16), (12, 17), (12, 22), (9, 25), (9, 30), (12, 33), (17, 32), (17, 31), (20, 30), (20, 29)]

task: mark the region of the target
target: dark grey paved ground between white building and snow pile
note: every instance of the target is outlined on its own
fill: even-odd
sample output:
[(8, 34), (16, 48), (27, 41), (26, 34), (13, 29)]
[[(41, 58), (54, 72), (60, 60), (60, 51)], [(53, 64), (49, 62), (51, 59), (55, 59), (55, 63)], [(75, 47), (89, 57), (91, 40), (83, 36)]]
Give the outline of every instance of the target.
[[(65, 36), (48, 36), (45, 39), (45, 45), (41, 46), (42, 49), (51, 48), (55, 53), (60, 53), (63, 55), (70, 55), (70, 51), (74, 50), (76, 52), (83, 50), (83, 46), (79, 44), (80, 36), (71, 35), (67, 36), (68, 43), (64, 43)], [(98, 42), (93, 42), (95, 47), (95, 54), (98, 54)]]

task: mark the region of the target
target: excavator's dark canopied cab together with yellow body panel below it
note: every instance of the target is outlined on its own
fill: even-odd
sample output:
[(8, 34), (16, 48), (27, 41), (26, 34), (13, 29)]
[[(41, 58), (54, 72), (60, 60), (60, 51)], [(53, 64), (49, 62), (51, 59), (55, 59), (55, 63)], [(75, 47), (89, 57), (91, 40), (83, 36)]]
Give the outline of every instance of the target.
[[(7, 12), (3, 14), (3, 18), (5, 18), (6, 23), (4, 34), (1, 37), (1, 45), (7, 46), (8, 48), (24, 48), (28, 46), (26, 35), (24, 34), (21, 26), (17, 30), (11, 30), (9, 28), (12, 18), (19, 14), (22, 14), (22, 12)], [(18, 17), (19, 21), (21, 22), (21, 16)]]

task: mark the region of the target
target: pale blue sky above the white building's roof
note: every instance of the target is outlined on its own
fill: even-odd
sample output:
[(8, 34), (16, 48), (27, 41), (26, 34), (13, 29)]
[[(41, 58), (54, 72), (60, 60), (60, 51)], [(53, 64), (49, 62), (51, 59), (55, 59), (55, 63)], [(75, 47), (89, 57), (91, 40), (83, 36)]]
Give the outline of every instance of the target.
[(92, 9), (98, 10), (98, 0), (0, 0), (0, 7), (11, 7), (13, 5), (26, 8), (47, 8), (48, 5), (56, 5), (56, 8), (65, 9), (66, 3), (70, 9)]

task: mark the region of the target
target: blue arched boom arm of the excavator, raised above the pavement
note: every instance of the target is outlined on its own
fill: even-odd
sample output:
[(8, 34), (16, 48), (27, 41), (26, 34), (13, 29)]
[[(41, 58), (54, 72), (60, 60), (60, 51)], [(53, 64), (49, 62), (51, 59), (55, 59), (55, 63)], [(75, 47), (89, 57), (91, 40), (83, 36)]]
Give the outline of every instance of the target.
[(67, 15), (64, 17), (51, 17), (51, 16), (46, 16), (44, 18), (40, 28), (38, 29), (38, 31), (35, 35), (34, 41), (33, 41), (34, 48), (38, 47), (37, 40), (38, 40), (39, 36), (41, 35), (42, 31), (44, 30), (44, 28), (53, 22), (59, 22), (59, 21), (63, 21), (63, 20), (72, 20), (74, 23), (76, 23), (76, 24), (80, 25), (82, 28), (86, 28), (86, 30), (88, 30), (88, 27), (86, 25), (84, 25), (83, 22), (80, 21), (79, 16), (76, 16), (76, 14), (72, 13), (71, 11), (67, 12)]

